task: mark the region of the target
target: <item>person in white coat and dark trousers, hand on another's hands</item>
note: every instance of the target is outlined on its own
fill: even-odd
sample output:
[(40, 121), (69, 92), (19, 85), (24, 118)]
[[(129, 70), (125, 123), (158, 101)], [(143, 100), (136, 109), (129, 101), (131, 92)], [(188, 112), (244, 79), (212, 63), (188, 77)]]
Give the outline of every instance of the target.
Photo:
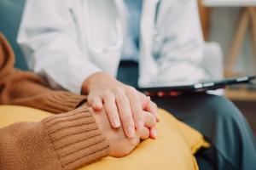
[(142, 127), (142, 110), (157, 116), (156, 102), (212, 142), (197, 157), (200, 166), (255, 165), (251, 130), (228, 99), (191, 94), (153, 102), (135, 89), (211, 77), (200, 66), (196, 0), (26, 0), (18, 42), (29, 68), (53, 88), (88, 94), (95, 110), (105, 107), (113, 127), (125, 124), (127, 136)]

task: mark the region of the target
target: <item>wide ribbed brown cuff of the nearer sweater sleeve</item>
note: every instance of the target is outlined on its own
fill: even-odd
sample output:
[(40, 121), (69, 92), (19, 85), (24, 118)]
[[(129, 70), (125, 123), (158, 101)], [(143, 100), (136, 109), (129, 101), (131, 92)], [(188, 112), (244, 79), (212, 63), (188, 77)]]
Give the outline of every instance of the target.
[(80, 107), (43, 120), (61, 166), (74, 169), (108, 156), (110, 146), (90, 109)]

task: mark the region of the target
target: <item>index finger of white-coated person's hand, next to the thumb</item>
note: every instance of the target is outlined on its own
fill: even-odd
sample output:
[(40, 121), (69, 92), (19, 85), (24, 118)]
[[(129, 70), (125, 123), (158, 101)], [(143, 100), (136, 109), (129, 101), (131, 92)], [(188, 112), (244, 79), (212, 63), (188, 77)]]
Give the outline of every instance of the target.
[(110, 92), (106, 92), (103, 95), (103, 102), (105, 111), (108, 115), (108, 120), (111, 123), (112, 127), (117, 128), (120, 127), (120, 119), (119, 119), (119, 112), (117, 109), (117, 105), (115, 103), (114, 95)]

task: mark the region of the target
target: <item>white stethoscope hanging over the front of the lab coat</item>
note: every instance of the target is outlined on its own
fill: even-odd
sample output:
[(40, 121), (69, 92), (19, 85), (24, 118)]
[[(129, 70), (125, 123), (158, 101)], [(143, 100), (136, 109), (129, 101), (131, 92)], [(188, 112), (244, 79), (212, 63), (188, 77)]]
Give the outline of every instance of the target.
[[(159, 9), (160, 9), (160, 1), (157, 3), (156, 5), (156, 12), (155, 12), (155, 16), (154, 16), (154, 24), (156, 25), (157, 19), (158, 19), (158, 15), (159, 15)], [(123, 42), (124, 42), (124, 37), (123, 37), (123, 33), (122, 33), (122, 26), (121, 26), (121, 21), (120, 19), (115, 20), (115, 29), (116, 29), (116, 37), (117, 40), (113, 45), (110, 45), (108, 47), (103, 47), (103, 48), (97, 48), (94, 44), (93, 44), (93, 40), (92, 40), (92, 32), (91, 32), (91, 28), (90, 28), (90, 11), (89, 11), (89, 4), (88, 4), (88, 0), (84, 1), (84, 12), (85, 12), (85, 17), (86, 17), (86, 36), (88, 38), (88, 46), (91, 50), (91, 52), (93, 52), (94, 54), (106, 54), (106, 53), (111, 53), (111, 52), (115, 52), (117, 50), (119, 50), (120, 48), (122, 48)], [(154, 37), (159, 37), (159, 32), (155, 32)]]

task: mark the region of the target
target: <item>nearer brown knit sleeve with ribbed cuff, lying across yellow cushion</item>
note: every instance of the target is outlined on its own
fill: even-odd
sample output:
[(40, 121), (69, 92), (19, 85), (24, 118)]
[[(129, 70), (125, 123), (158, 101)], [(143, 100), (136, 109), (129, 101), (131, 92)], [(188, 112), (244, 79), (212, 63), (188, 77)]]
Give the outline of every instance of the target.
[(76, 169), (109, 151), (86, 107), (0, 129), (0, 169)]

